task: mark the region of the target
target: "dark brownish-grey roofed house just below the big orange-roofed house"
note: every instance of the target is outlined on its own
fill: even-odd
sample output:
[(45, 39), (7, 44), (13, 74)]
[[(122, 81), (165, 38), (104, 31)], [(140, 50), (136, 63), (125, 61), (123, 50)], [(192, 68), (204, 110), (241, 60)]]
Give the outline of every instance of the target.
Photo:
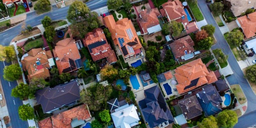
[(187, 94), (184, 99), (178, 101), (183, 115), (187, 120), (202, 115), (202, 108), (195, 95)]

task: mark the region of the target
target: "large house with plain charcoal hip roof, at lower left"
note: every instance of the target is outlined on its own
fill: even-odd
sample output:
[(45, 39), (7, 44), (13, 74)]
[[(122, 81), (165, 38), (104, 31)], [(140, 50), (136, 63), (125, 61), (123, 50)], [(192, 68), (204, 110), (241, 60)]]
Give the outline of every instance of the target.
[(68, 106), (80, 99), (80, 90), (76, 80), (57, 85), (47, 86), (36, 91), (36, 101), (42, 105), (44, 113), (51, 113), (63, 106)]

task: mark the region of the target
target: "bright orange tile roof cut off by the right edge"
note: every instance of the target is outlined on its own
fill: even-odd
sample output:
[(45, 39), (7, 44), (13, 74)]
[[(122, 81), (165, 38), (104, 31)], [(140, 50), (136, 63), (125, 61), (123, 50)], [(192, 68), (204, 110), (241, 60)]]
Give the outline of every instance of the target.
[(255, 36), (256, 33), (256, 12), (252, 12), (247, 16), (244, 15), (242, 17), (237, 18), (237, 21), (241, 25), (243, 29), (244, 35), (246, 38), (251, 38)]

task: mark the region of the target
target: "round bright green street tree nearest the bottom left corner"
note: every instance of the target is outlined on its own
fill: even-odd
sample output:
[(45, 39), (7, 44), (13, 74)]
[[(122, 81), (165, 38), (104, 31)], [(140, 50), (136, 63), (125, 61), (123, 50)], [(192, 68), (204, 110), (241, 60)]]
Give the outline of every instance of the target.
[(31, 120), (35, 117), (34, 109), (29, 105), (21, 105), (18, 108), (18, 113), (21, 120), (27, 121), (28, 119)]

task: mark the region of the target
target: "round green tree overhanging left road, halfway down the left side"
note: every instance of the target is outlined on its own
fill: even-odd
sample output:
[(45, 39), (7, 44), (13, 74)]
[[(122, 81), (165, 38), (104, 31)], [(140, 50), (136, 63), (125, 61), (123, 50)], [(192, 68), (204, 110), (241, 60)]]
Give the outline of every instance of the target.
[(12, 64), (4, 67), (4, 79), (7, 81), (14, 81), (20, 78), (22, 75), (19, 64)]

